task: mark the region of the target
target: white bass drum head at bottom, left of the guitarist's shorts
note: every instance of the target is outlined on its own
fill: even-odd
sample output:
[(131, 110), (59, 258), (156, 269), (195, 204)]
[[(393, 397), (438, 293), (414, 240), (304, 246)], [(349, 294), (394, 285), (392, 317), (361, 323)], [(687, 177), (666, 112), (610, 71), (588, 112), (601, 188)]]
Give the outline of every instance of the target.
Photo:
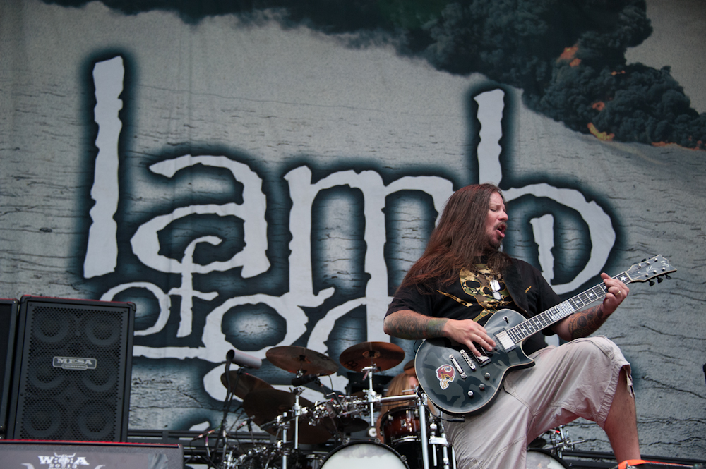
[(353, 441), (328, 453), (321, 469), (409, 469), (400, 453), (374, 441)]

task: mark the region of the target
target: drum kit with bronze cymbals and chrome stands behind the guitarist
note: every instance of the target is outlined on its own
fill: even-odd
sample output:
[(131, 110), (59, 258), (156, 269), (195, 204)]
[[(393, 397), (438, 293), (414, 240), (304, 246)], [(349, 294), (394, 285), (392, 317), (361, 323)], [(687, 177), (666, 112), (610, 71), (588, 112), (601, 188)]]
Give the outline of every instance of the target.
[[(364, 342), (347, 348), (340, 355), (340, 365), (363, 374), (367, 389), (351, 395), (333, 392), (316, 402), (301, 396), (304, 384), (337, 372), (339, 363), (300, 346), (270, 348), (265, 355), (275, 367), (295, 375), (291, 392), (275, 389), (242, 370), (227, 370), (221, 382), (229, 394), (242, 399), (241, 408), (248, 415), (238, 428), (253, 422), (274, 438), (245, 451), (229, 444), (234, 438), (223, 432), (216, 468), (345, 469), (365, 465), (366, 469), (455, 469), (441, 420), (429, 410), (421, 389), (404, 396), (382, 396), (373, 389), (376, 373), (404, 360), (405, 351), (399, 346)], [(376, 439), (376, 412), (383, 405), (398, 404), (380, 419), (383, 437)], [(366, 437), (352, 438), (364, 430), (369, 430)], [(331, 451), (310, 449), (310, 445), (330, 444), (332, 440)]]

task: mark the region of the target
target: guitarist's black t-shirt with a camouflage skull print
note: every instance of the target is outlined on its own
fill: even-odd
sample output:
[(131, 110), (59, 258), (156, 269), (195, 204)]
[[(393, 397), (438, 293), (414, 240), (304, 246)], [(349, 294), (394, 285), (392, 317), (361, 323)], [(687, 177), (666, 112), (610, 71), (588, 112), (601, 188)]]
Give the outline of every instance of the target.
[[(479, 273), (463, 269), (450, 284), (426, 286), (424, 293), (417, 286), (397, 291), (386, 315), (412, 310), (431, 317), (473, 319), (483, 325), (501, 309), (530, 318), (561, 303), (542, 273), (527, 262), (513, 259), (502, 276), (493, 276), (484, 264), (477, 267)], [(551, 335), (554, 331), (547, 328), (542, 333)], [(522, 350), (528, 355), (544, 347), (542, 334), (534, 334), (522, 343)]]

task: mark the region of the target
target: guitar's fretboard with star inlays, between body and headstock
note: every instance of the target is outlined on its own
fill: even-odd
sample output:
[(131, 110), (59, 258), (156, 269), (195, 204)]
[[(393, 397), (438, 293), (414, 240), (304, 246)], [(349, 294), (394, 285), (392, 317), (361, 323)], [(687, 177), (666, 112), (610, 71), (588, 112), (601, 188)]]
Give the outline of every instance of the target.
[[(618, 274), (613, 278), (617, 279), (618, 277), (625, 284), (629, 284), (633, 281), (630, 279), (627, 272)], [(605, 284), (598, 284), (593, 288), (589, 288), (588, 290), (549, 308), (549, 310), (546, 310), (537, 316), (530, 317), (530, 319), (522, 322), (522, 324), (517, 324), (515, 327), (510, 327), (510, 329), (507, 329), (507, 333), (514, 343), (520, 343), (532, 334), (535, 334), (542, 329), (561, 321), (561, 319), (564, 319), (567, 316), (573, 315), (573, 313), (578, 310), (582, 310), (591, 303), (602, 300), (605, 296)]]

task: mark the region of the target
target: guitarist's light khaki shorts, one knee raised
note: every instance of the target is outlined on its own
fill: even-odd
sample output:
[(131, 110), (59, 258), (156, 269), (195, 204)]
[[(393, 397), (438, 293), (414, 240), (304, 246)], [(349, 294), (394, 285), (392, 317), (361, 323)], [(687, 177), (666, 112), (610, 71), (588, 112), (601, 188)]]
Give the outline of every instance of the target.
[(630, 364), (604, 336), (576, 339), (530, 355), (536, 365), (510, 372), (491, 407), (463, 423), (443, 422), (460, 469), (525, 469), (527, 444), (578, 417), (604, 427), (618, 374)]

